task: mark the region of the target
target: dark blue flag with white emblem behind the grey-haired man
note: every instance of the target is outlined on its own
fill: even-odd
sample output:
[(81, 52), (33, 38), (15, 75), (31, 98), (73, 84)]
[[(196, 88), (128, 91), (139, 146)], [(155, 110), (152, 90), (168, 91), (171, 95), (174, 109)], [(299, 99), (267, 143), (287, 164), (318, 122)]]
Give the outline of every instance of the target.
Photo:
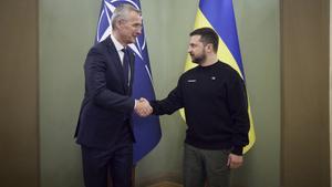
[[(141, 10), (139, 0), (103, 0), (95, 42), (101, 42), (110, 37), (112, 32), (111, 18), (113, 11), (121, 3), (129, 3)], [(144, 27), (142, 34), (136, 39), (136, 43), (128, 46), (135, 53), (133, 97), (155, 100)], [(133, 129), (136, 138), (136, 143), (134, 144), (134, 164), (136, 164), (158, 144), (162, 136), (159, 118), (157, 116), (143, 118), (133, 114)]]

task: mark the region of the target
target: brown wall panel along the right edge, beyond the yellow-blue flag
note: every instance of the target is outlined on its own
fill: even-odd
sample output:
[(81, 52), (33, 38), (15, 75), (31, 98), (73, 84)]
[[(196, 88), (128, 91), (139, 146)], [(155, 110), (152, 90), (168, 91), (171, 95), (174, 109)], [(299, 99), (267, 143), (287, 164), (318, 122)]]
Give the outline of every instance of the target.
[(329, 0), (282, 0), (283, 187), (329, 187)]

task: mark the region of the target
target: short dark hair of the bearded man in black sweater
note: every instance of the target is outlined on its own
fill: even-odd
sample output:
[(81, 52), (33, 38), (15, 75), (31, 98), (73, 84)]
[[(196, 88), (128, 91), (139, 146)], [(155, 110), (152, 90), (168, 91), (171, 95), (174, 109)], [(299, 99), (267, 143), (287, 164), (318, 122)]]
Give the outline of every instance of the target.
[(211, 28), (199, 28), (190, 32), (190, 37), (193, 35), (200, 35), (200, 42), (203, 44), (211, 43), (214, 46), (214, 51), (217, 53), (218, 51), (218, 42), (219, 38), (218, 34)]

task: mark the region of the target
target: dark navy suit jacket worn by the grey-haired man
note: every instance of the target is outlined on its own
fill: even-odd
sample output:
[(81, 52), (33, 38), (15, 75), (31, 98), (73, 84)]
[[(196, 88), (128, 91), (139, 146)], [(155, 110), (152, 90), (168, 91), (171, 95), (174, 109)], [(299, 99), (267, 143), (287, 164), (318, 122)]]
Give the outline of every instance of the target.
[(122, 63), (116, 48), (107, 37), (87, 53), (85, 94), (76, 126), (76, 143), (89, 147), (107, 148), (121, 135), (123, 125), (129, 125), (135, 100), (131, 98), (134, 77), (134, 54), (129, 53), (129, 86), (124, 82)]

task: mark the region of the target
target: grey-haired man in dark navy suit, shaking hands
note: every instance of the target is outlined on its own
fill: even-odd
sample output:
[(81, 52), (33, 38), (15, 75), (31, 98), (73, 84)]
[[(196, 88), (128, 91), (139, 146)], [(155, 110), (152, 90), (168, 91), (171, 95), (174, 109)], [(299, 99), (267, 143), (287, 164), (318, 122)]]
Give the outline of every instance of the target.
[(85, 94), (76, 127), (82, 148), (84, 184), (106, 187), (111, 172), (113, 187), (132, 186), (133, 135), (131, 116), (148, 113), (147, 103), (131, 97), (134, 54), (127, 44), (142, 32), (141, 11), (118, 6), (112, 15), (112, 34), (87, 53)]

